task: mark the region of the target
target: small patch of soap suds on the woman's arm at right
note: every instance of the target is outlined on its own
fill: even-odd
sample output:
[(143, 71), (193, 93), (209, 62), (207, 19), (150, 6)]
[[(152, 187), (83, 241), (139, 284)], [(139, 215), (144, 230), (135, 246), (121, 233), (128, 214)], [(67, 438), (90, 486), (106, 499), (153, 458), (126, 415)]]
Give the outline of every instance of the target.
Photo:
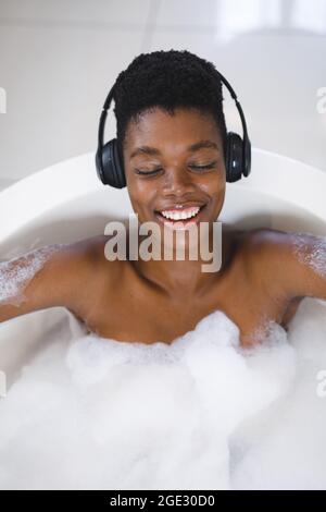
[(309, 265), (317, 275), (326, 278), (326, 236), (296, 233), (293, 239), (294, 252), (299, 260)]

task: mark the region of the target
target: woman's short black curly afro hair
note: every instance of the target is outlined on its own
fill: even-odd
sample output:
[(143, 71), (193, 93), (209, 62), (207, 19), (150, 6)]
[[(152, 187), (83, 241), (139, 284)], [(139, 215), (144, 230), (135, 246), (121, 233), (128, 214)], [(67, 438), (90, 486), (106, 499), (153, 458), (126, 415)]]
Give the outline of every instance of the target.
[[(117, 148), (123, 158), (129, 121), (155, 107), (170, 114), (178, 107), (213, 115), (226, 155), (221, 77), (212, 62), (188, 50), (160, 50), (136, 57), (116, 78), (113, 92)], [(123, 160), (122, 160), (123, 161)]]

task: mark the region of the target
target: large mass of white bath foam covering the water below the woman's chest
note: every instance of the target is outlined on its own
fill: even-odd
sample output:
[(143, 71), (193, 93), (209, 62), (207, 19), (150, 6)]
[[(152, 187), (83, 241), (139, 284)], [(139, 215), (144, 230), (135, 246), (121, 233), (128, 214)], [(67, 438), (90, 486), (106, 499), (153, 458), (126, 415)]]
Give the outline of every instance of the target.
[(325, 489), (325, 313), (250, 351), (217, 310), (171, 345), (59, 330), (0, 401), (0, 488)]

